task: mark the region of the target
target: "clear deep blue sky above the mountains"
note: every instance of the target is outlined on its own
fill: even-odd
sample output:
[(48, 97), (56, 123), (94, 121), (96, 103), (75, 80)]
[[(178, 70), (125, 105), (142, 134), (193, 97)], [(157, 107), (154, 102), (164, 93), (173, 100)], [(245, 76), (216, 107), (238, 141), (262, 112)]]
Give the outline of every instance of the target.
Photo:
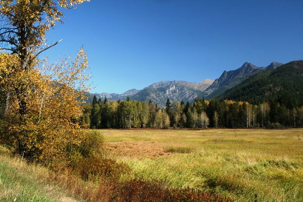
[(87, 52), (92, 92), (201, 82), (303, 59), (303, 0), (91, 0), (48, 32), (50, 60)]

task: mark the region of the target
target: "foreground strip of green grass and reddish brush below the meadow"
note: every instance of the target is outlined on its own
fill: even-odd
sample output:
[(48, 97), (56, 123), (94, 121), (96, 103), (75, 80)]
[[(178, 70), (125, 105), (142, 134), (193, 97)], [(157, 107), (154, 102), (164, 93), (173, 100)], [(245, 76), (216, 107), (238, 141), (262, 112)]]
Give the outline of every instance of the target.
[(155, 180), (82, 180), (69, 169), (54, 172), (28, 165), (10, 157), (8, 151), (0, 152), (0, 160), (1, 202), (230, 202), (209, 192), (170, 188)]

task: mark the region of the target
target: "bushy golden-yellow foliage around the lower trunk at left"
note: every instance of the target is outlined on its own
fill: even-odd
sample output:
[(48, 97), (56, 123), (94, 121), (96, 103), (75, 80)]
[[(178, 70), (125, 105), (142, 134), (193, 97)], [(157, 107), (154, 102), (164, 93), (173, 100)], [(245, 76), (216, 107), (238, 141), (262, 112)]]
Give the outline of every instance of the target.
[[(68, 164), (72, 157), (67, 148), (81, 144), (84, 138), (76, 121), (82, 115), (81, 103), (88, 90), (89, 76), (85, 74), (88, 62), (83, 49), (76, 58), (59, 65), (41, 63), (40, 67), (27, 71), (15, 68), (18, 63), (14, 55), (1, 53), (1, 58), (11, 58), (0, 66), (0, 75), (3, 75), (0, 81), (6, 86), (1, 89), (10, 93), (1, 139), (16, 154), (30, 161)], [(20, 119), (19, 114), (19, 91), (16, 90), (19, 86), (26, 88), (25, 120)]]

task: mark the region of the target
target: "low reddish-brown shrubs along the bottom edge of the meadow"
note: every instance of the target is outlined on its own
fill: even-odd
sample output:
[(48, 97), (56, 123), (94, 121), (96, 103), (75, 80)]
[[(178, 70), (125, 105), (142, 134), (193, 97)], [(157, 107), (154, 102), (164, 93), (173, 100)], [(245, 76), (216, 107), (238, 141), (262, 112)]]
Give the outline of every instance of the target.
[(90, 202), (231, 202), (228, 198), (192, 188), (169, 188), (159, 181), (133, 179), (118, 182), (83, 182), (70, 172), (50, 175), (49, 179), (73, 196)]

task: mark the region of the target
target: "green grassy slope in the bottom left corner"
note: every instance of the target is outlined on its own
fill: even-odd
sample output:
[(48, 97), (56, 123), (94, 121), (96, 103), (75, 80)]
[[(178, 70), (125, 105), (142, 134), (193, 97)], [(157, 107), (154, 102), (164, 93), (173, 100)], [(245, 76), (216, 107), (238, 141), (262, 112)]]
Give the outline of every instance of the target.
[(46, 182), (48, 170), (10, 157), (0, 147), (0, 202), (72, 202)]

